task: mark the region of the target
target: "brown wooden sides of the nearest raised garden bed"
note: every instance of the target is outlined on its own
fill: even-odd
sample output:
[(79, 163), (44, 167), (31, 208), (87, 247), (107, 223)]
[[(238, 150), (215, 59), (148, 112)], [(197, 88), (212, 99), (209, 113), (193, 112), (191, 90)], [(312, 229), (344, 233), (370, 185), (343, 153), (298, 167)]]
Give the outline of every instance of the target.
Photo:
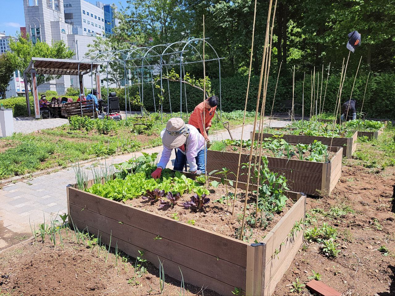
[[(186, 283), (222, 295), (231, 295), (235, 287), (246, 296), (273, 294), (303, 242), (303, 225), (293, 231), (305, 218), (306, 195), (300, 193), (287, 192), (295, 200), (292, 208), (263, 242), (248, 244), (75, 187), (67, 187), (68, 214), (75, 227), (98, 235), (107, 245), (111, 240), (111, 247), (117, 245), (132, 257), (144, 251), (152, 264), (162, 261), (167, 275), (181, 280), (182, 272)], [(162, 239), (154, 240), (157, 236)]]

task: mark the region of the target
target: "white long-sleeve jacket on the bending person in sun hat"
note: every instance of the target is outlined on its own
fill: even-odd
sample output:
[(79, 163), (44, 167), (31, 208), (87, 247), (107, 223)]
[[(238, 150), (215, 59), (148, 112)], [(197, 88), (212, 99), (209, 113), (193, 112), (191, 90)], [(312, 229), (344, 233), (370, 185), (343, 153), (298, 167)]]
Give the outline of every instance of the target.
[[(187, 124), (186, 126), (189, 127), (189, 131), (190, 131), (189, 137), (186, 140), (186, 152), (182, 151), (179, 148), (177, 149), (181, 150), (181, 152), (186, 155), (186, 159), (188, 160), (190, 170), (195, 171), (198, 169), (198, 165), (196, 165), (195, 158), (200, 152), (200, 150), (204, 149), (205, 141), (204, 141), (204, 137), (201, 135), (201, 133), (199, 133), (196, 127), (191, 126), (190, 124)], [(164, 129), (160, 133), (161, 138), (163, 137), (165, 132), (166, 129)], [(172, 149), (169, 149), (163, 145), (162, 156), (160, 157), (158, 167), (162, 167), (162, 169), (166, 167), (170, 159), (171, 151)]]

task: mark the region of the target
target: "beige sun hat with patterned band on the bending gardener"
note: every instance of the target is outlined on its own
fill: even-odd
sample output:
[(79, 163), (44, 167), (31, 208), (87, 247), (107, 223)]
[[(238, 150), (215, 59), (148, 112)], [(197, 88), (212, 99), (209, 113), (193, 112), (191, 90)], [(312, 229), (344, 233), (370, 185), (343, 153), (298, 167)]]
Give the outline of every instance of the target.
[(162, 137), (162, 143), (169, 149), (185, 144), (189, 135), (189, 128), (179, 117), (170, 118)]

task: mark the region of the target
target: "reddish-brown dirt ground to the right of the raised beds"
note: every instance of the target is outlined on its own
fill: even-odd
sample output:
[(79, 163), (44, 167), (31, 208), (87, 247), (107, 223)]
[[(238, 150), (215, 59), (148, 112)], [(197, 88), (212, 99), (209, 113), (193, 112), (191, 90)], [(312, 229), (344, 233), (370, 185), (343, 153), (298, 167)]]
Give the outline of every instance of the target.
[[(320, 251), (317, 242), (305, 242), (290, 268), (278, 283), (275, 295), (293, 295), (292, 282), (299, 278), (305, 284), (312, 270), (322, 275), (321, 281), (342, 295), (395, 295), (395, 169), (387, 167), (376, 174), (372, 169), (355, 166), (347, 161), (342, 176), (329, 197), (307, 199), (307, 213), (320, 208), (349, 205), (354, 210), (345, 216), (328, 221), (338, 228), (338, 257), (329, 259)], [(308, 227), (307, 227), (308, 228)], [(385, 245), (389, 254), (378, 251)], [(306, 288), (300, 294), (310, 295)]]

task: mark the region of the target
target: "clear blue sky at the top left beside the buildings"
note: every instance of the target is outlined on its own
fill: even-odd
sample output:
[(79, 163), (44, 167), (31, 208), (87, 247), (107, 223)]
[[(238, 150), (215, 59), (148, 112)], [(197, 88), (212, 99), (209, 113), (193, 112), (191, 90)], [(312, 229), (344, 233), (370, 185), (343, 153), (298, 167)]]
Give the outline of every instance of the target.
[[(14, 36), (19, 27), (24, 27), (24, 12), (23, 12), (23, 1), (24, 0), (1, 0), (2, 3), (2, 19), (0, 20), (0, 31), (6, 31), (7, 35)], [(112, 0), (105, 1), (101, 0), (105, 4), (116, 3), (119, 6), (119, 2), (123, 6), (126, 6), (126, 0)], [(96, 0), (89, 0), (90, 3), (95, 3)]]

